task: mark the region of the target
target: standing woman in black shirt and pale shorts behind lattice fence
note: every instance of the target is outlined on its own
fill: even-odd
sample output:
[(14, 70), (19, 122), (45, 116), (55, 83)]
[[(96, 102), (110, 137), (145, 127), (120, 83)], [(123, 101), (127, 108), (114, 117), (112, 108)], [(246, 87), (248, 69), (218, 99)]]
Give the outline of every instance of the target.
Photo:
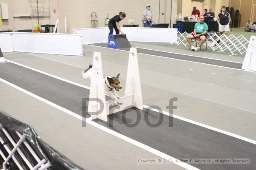
[(226, 12), (226, 7), (222, 6), (221, 7), (221, 12), (218, 14), (217, 22), (219, 24), (219, 31), (221, 34), (224, 33), (228, 37), (229, 31), (230, 31), (230, 22), (231, 22), (231, 17), (228, 12)]

